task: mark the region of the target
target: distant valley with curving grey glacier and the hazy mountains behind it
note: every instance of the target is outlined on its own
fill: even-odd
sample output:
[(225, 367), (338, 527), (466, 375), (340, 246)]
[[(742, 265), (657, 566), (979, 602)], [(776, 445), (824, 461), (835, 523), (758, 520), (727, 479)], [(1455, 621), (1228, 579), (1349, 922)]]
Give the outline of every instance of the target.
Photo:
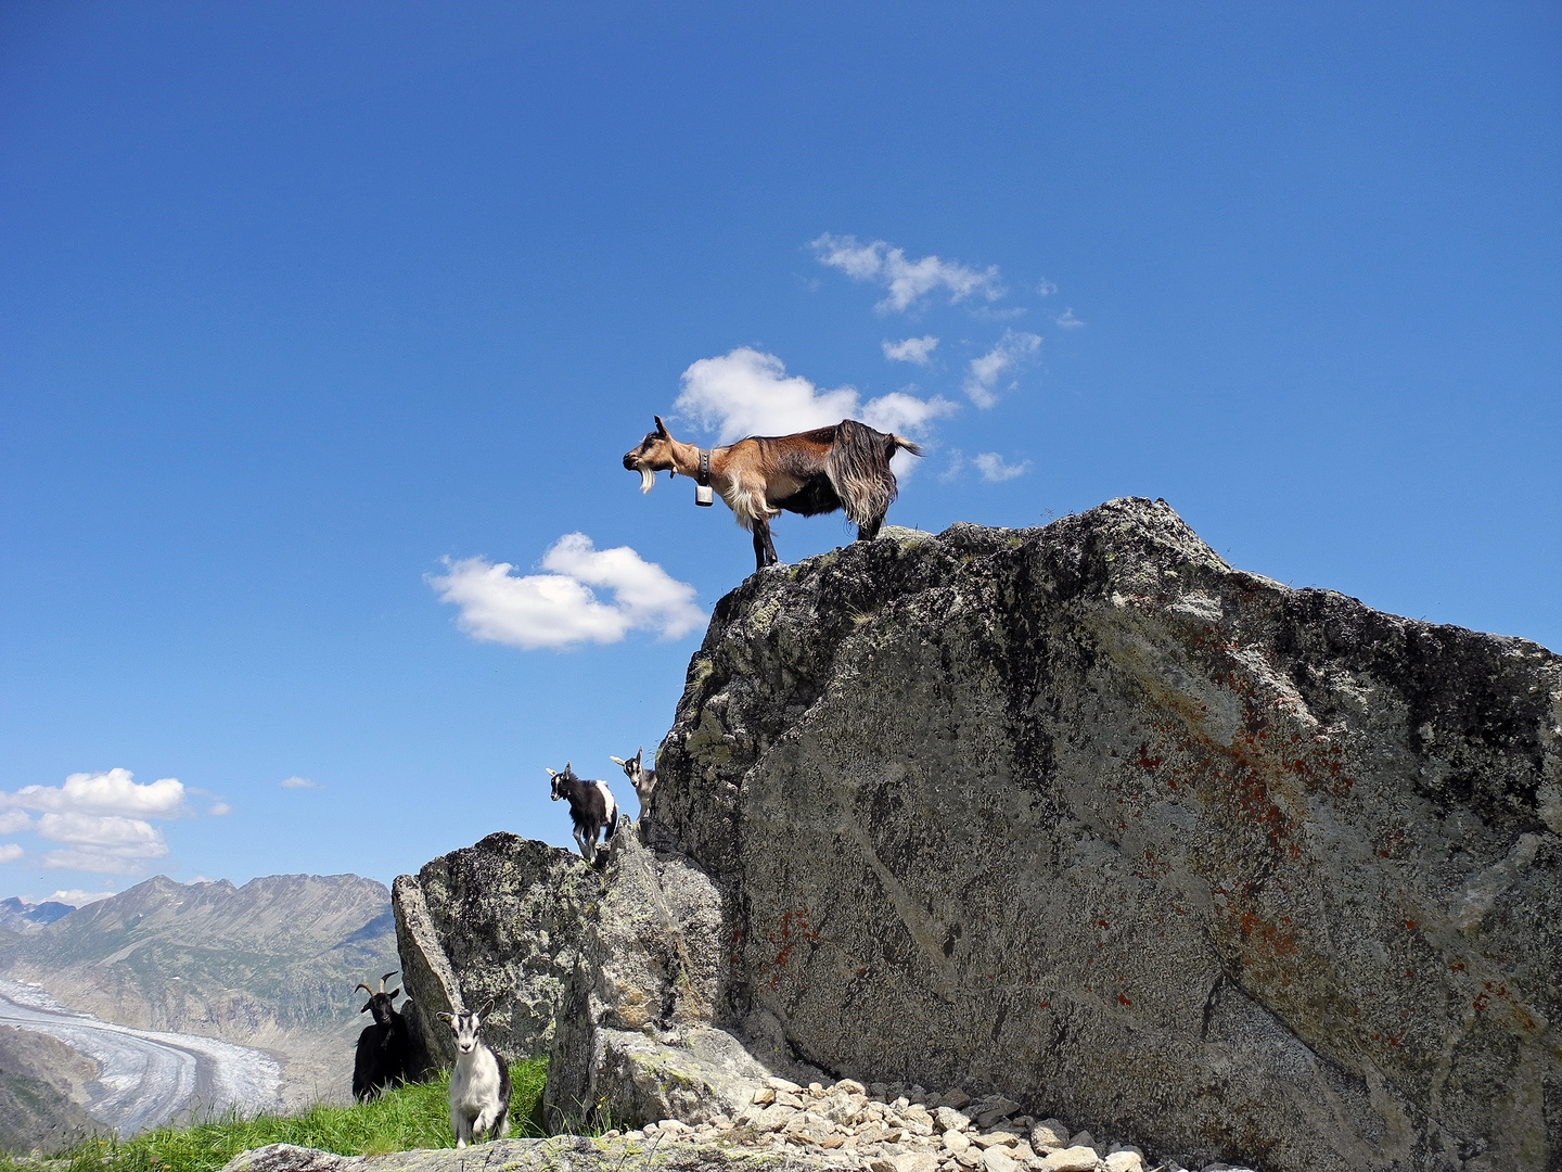
[[(400, 966), (389, 905), (383, 884), (358, 875), (272, 875), (242, 888), (159, 875), (5, 933), (0, 1024), (28, 1034), (0, 1031), (25, 1052), (11, 1063), (20, 1089), (9, 1116), (20, 1125), (0, 1145), (47, 1130), (48, 1119), (30, 1127), (28, 1114), (80, 1109), (133, 1134), (192, 1111), (347, 1102), (364, 1027), (353, 986)], [(39, 1034), (69, 1050), (22, 1044)], [(0, 1038), (0, 1066), (6, 1049)], [(83, 1078), (83, 1064), (95, 1077)]]

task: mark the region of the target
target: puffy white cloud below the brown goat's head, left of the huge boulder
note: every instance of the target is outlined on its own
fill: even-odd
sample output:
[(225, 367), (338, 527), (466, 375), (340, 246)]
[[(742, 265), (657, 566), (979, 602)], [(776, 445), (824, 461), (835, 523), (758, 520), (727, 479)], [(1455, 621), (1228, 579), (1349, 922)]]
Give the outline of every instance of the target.
[[(619, 642), (631, 630), (678, 639), (706, 620), (695, 589), (628, 545), (597, 550), (584, 533), (567, 533), (542, 556), (547, 573), (515, 575), (509, 563), (448, 561), (430, 577), (439, 600), (461, 608), (456, 625), (486, 642), (536, 650), (581, 642)], [(592, 586), (614, 592), (600, 602)]]

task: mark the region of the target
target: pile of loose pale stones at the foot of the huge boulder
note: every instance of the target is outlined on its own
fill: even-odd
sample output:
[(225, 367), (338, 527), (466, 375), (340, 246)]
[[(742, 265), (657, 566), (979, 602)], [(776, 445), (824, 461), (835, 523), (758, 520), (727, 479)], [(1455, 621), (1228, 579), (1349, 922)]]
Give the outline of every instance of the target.
[[(767, 1078), (734, 1117), (676, 1119), (604, 1139), (695, 1142), (728, 1149), (801, 1150), (834, 1167), (870, 1172), (1187, 1172), (1175, 1156), (1150, 1161), (1126, 1142), (1098, 1141), (1061, 1119), (1020, 1114), (1012, 1099), (972, 1099), (920, 1086), (843, 1078), (800, 1086)], [(1200, 1172), (1248, 1172), (1206, 1164)]]

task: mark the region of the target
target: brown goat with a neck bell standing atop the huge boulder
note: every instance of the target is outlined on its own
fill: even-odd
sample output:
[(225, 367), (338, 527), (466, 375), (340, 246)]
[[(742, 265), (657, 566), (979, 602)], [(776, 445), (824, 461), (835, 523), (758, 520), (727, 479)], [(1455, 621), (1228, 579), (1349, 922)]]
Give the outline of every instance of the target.
[(804, 517), (845, 509), (858, 541), (872, 541), (900, 491), (889, 467), (897, 448), (922, 455), (909, 439), (842, 419), (814, 431), (750, 436), (701, 450), (673, 439), (656, 416), (656, 430), (625, 453), (623, 466), (640, 473), (640, 492), (650, 492), (656, 473), (669, 470), (714, 488), (737, 523), (754, 534), (754, 566), (762, 570), (781, 561), (770, 519), (783, 509)]

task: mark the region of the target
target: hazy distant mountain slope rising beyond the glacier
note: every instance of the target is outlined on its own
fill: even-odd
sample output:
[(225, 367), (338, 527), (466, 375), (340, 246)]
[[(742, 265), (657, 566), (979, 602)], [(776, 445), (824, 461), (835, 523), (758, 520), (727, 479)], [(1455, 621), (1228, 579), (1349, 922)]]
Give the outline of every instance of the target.
[(350, 1097), (353, 986), (400, 967), (394, 933), (389, 892), (358, 875), (159, 875), (14, 941), (0, 964), (105, 1020), (270, 1050), (298, 1106)]

